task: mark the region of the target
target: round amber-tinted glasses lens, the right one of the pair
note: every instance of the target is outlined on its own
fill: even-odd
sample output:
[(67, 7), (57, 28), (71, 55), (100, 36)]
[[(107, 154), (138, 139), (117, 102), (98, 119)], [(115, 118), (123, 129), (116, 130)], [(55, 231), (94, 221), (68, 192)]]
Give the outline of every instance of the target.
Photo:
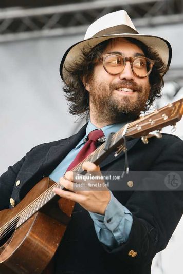
[(145, 76), (151, 70), (151, 62), (146, 58), (137, 58), (132, 65), (134, 72), (138, 76)]

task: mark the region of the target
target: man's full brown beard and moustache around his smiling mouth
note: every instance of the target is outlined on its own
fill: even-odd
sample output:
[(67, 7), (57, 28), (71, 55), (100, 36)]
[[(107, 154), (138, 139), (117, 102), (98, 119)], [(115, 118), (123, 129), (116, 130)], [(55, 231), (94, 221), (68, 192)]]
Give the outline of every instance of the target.
[[(134, 95), (119, 95), (114, 93), (115, 89), (122, 86), (135, 90)], [(132, 81), (121, 80), (118, 83), (107, 85), (101, 81), (91, 79), (90, 81), (90, 112), (95, 115), (97, 122), (108, 124), (127, 122), (135, 120), (145, 105), (150, 94), (150, 84), (137, 85)]]

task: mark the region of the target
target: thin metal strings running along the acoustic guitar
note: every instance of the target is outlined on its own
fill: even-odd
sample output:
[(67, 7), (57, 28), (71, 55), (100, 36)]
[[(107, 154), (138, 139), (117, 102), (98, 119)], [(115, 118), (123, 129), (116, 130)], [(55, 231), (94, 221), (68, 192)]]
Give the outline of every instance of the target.
[[(141, 118), (140, 120), (139, 120), (139, 122), (142, 122), (143, 120), (147, 120), (147, 117), (149, 118), (150, 117), (150, 115), (152, 115), (152, 114), (154, 114), (154, 113), (151, 113), (151, 114), (149, 114), (149, 115), (147, 115), (147, 116), (144, 116), (144, 118)], [(156, 120), (153, 120), (153, 121), (157, 121), (157, 120), (159, 120), (159, 119), (163, 119), (163, 117), (160, 117), (160, 118), (158, 118), (158, 119), (156, 119)], [(150, 121), (148, 121), (147, 123), (145, 123), (145, 124), (141, 124), (140, 123), (140, 127), (142, 127), (142, 126), (144, 126), (144, 125), (147, 125), (147, 124), (149, 124), (149, 123), (151, 123)], [(137, 129), (136, 127), (130, 127), (131, 125), (134, 125), (134, 124), (137, 124), (138, 125), (138, 123), (137, 123), (137, 121), (134, 121), (134, 122), (132, 122), (132, 123), (130, 123), (129, 124), (129, 129), (127, 129), (126, 130), (126, 133), (129, 133), (129, 132), (131, 132), (131, 131), (133, 131), (134, 129)], [(120, 129), (116, 134), (114, 134), (115, 135), (115, 138), (117, 137), (117, 135), (119, 135), (119, 133), (121, 133), (121, 131), (123, 130), (123, 128), (122, 129)], [(111, 140), (113, 140), (114, 139), (114, 136), (112, 137), (112, 139)], [(103, 146), (104, 147), (104, 144), (102, 144), (101, 146)], [(99, 147), (100, 148), (100, 150), (101, 150), (101, 146)], [(99, 149), (98, 148), (98, 149)], [(97, 151), (98, 151), (98, 149), (96, 149), (94, 152), (96, 153)], [(91, 153), (91, 154), (93, 154), (93, 153)], [(85, 162), (86, 161), (86, 159), (89, 159), (89, 157), (91, 156), (91, 154), (88, 156), (88, 157), (86, 157), (82, 162), (80, 162), (77, 166), (75, 166), (75, 168), (74, 169), (72, 169), (71, 171), (75, 171), (76, 169), (77, 169), (77, 167), (79, 167), (83, 162)], [(92, 155), (92, 156), (94, 156), (94, 155)], [(31, 202), (27, 207), (25, 207), (21, 212), (19, 212), (14, 218), (12, 218), (9, 222), (7, 222), (3, 227), (1, 227), (0, 228), (0, 233), (1, 233), (1, 231), (3, 231), (4, 232), (4, 227), (6, 227), (6, 229), (7, 228), (11, 228), (11, 226), (10, 227), (8, 227), (8, 223), (9, 224), (13, 224), (13, 221), (14, 222), (16, 222), (17, 221), (17, 219), (20, 217), (20, 214), (21, 213), (23, 213), (24, 212), (24, 214), (23, 214), (23, 216), (25, 215), (26, 216), (26, 210), (31, 206), (31, 205), (33, 205), (33, 204), (35, 204), (35, 205), (37, 205), (36, 204), (36, 202), (38, 201), (38, 200), (41, 200), (42, 201), (42, 199), (44, 199), (44, 197), (45, 197), (45, 194), (48, 194), (49, 192), (50, 192), (50, 190), (52, 190), (56, 185), (59, 185), (59, 182), (57, 182), (57, 183), (55, 183), (52, 187), (50, 187), (50, 188), (48, 188), (46, 191), (44, 191), (38, 198), (36, 198), (33, 202)], [(41, 199), (40, 199), (41, 198)], [(38, 206), (38, 205), (37, 205)], [(32, 210), (31, 210), (32, 211)], [(36, 211), (35, 211), (36, 212)], [(35, 213), (34, 212), (34, 213)], [(14, 223), (15, 224), (15, 223)], [(16, 223), (17, 224), (17, 223)], [(14, 228), (14, 227), (13, 227)], [(9, 231), (10, 232), (10, 231)], [(8, 233), (9, 233), (8, 232)], [(7, 233), (7, 231), (6, 231), (6, 233)], [(1, 238), (2, 238), (2, 236), (3, 237), (5, 237), (4, 236), (4, 233), (2, 233), (1, 234)]]

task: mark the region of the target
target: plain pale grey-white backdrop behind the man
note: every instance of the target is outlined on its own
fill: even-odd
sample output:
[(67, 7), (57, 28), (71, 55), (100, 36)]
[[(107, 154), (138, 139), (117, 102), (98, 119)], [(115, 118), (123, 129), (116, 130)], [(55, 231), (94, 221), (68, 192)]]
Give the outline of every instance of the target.
[[(182, 24), (139, 32), (167, 38), (173, 48), (172, 66), (182, 66)], [(81, 127), (82, 123), (75, 123), (68, 114), (59, 75), (63, 53), (81, 39), (76, 35), (0, 44), (0, 173), (33, 146), (65, 138)], [(163, 97), (160, 100), (161, 105), (167, 103)], [(182, 125), (182, 121), (177, 124), (175, 134), (183, 136)], [(181, 221), (166, 250), (156, 256), (152, 273), (183, 271), (182, 227)]]

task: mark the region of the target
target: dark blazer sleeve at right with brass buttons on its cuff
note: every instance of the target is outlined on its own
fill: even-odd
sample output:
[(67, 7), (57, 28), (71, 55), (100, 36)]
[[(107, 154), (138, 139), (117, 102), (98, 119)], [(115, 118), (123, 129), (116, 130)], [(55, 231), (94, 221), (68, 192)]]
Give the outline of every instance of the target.
[[(160, 153), (151, 171), (182, 169), (183, 142), (179, 139)], [(103, 247), (126, 263), (146, 264), (167, 246), (182, 216), (183, 191), (134, 191), (125, 206), (133, 215), (128, 240), (113, 250)]]

